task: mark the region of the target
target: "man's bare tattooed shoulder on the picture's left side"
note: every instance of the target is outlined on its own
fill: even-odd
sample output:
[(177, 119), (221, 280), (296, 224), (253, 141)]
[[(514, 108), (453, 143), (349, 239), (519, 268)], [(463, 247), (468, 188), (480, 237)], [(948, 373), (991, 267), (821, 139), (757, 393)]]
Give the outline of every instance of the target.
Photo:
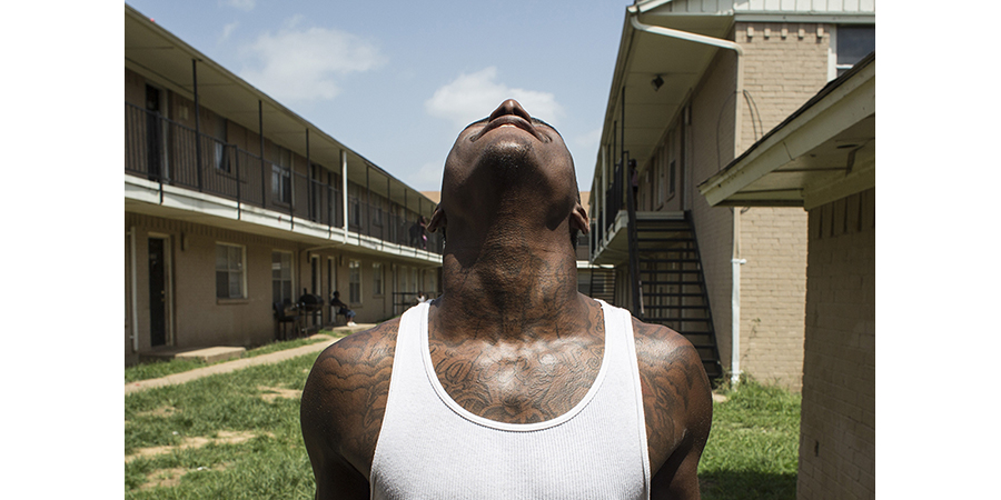
[(315, 462), (344, 461), (367, 479), (386, 411), (399, 320), (325, 349), (303, 390), (303, 438)]

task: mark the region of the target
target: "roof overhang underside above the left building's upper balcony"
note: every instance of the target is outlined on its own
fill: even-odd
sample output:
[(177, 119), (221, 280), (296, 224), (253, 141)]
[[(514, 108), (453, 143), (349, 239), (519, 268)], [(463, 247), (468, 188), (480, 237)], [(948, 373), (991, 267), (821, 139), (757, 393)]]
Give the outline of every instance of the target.
[[(192, 64), (192, 61), (197, 62)], [(260, 130), (262, 121), (265, 137), (303, 157), (307, 156), (308, 130), (311, 162), (339, 172), (340, 154), (344, 151), (347, 156), (349, 181), (370, 186), (374, 193), (392, 198), (400, 204), (406, 200), (407, 208), (414, 211), (423, 208), (427, 212), (435, 206), (419, 191), (404, 184), (129, 4), (125, 6), (125, 66), (192, 100), (197, 74), (200, 106), (254, 132)]]

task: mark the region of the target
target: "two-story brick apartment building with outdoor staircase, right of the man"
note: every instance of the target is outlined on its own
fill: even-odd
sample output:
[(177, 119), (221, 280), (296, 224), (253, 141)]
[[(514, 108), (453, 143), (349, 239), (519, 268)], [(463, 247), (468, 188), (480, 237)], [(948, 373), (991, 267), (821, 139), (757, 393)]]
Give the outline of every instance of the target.
[(614, 268), (616, 304), (686, 334), (711, 377), (800, 390), (807, 214), (713, 207), (695, 187), (871, 52), (874, 26), (872, 0), (626, 9), (591, 187), (591, 259)]

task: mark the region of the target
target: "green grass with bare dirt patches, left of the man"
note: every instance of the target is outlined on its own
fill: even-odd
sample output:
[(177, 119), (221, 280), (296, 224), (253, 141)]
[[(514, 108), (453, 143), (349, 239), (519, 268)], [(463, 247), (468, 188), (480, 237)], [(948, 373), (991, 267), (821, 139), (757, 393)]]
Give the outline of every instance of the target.
[[(252, 436), (236, 444), (176, 449), (126, 463), (126, 498), (311, 498), (313, 471), (299, 430), (298, 398), (265, 401), (258, 387), (301, 390), (318, 353), (275, 364), (137, 392), (125, 401), (125, 454), (178, 446), (222, 432)], [(142, 489), (174, 469), (176, 486)], [(200, 469), (200, 470), (199, 470)]]

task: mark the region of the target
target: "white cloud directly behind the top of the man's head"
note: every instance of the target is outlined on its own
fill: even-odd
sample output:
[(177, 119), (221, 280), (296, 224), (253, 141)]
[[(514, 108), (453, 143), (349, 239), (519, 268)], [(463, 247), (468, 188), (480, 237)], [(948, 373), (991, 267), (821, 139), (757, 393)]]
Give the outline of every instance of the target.
[(456, 127), (465, 127), (486, 117), (505, 99), (516, 99), (533, 117), (553, 126), (563, 116), (563, 108), (549, 92), (508, 87), (497, 80), (497, 68), (488, 67), (475, 73), (462, 73), (455, 80), (435, 91), (424, 102), (424, 109), (433, 117), (450, 120)]

